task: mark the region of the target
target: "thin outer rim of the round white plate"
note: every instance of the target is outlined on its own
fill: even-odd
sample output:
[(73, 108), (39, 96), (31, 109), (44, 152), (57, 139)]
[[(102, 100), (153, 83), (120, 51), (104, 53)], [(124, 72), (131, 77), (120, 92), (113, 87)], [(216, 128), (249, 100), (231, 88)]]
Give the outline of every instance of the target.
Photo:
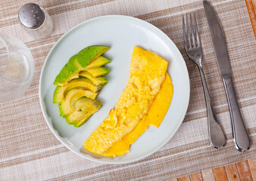
[[(180, 118), (181, 121), (178, 123), (178, 125), (176, 126), (176, 129), (173, 131), (173, 133), (171, 133), (170, 136), (167, 137), (167, 139), (161, 144), (161, 146), (158, 146), (158, 147), (156, 147), (155, 149), (152, 149), (151, 152), (148, 152), (147, 154), (143, 155), (142, 157), (130, 159), (130, 161), (110, 162), (110, 161), (105, 161), (105, 160), (99, 160), (99, 159), (97, 159), (97, 158), (87, 157), (86, 155), (83, 155), (83, 154), (80, 153), (80, 152), (76, 152), (74, 149), (72, 149), (70, 146), (68, 146), (66, 143), (64, 143), (64, 141), (61, 139), (61, 137), (60, 137), (59, 135), (57, 135), (57, 133), (55, 133), (54, 128), (52, 127), (52, 125), (50, 125), (50, 123), (49, 123), (49, 121), (48, 121), (48, 118), (46, 118), (47, 112), (46, 112), (46, 110), (45, 110), (45, 108), (44, 108), (44, 106), (43, 106), (43, 103), (42, 103), (42, 102), (43, 102), (43, 100), (42, 100), (42, 88), (41, 88), (41, 87), (42, 87), (42, 75), (43, 75), (43, 73), (44, 73), (44, 71), (45, 71), (45, 65), (46, 65), (46, 63), (48, 62), (48, 57), (50, 57), (50, 56), (53, 54), (52, 52), (54, 51), (56, 45), (57, 45), (63, 38), (65, 38), (65, 36), (66, 36), (67, 34), (69, 34), (70, 32), (72, 32), (74, 29), (79, 28), (79, 26), (83, 26), (83, 24), (89, 23), (89, 22), (94, 21), (94, 20), (98, 20), (98, 19), (102, 19), (102, 18), (109, 18), (109, 17), (118, 17), (118, 18), (121, 17), (121, 18), (133, 19), (133, 20), (136, 20), (136, 21), (139, 20), (139, 21), (141, 21), (142, 23), (148, 24), (148, 26), (151, 26), (151, 28), (158, 30), (158, 32), (159, 32), (161, 35), (163, 35), (163, 36), (167, 39), (167, 41), (169, 41), (170, 44), (173, 45), (173, 48), (176, 49), (176, 53), (177, 53), (177, 54), (179, 55), (179, 57), (183, 60), (183, 61), (182, 61), (183, 66), (186, 67), (186, 71), (185, 71), (185, 72), (186, 72), (186, 77), (187, 77), (187, 81), (188, 81), (188, 85), (187, 85), (188, 91), (187, 91), (187, 93), (186, 93), (187, 100), (186, 100), (186, 105), (184, 105), (184, 106), (185, 106), (185, 109), (183, 109), (183, 116), (181, 116), (181, 118)], [(168, 46), (168, 47), (169, 47), (169, 46)], [(101, 163), (101, 164), (128, 164), (128, 163), (131, 163), (131, 162), (135, 162), (135, 161), (142, 160), (143, 158), (146, 158), (146, 157), (148, 157), (149, 155), (152, 155), (153, 153), (157, 152), (159, 149), (161, 149), (161, 148), (174, 136), (174, 134), (177, 132), (177, 130), (179, 130), (179, 128), (180, 128), (181, 124), (183, 123), (184, 118), (185, 118), (185, 116), (186, 116), (187, 109), (188, 109), (188, 107), (189, 107), (189, 99), (190, 99), (190, 79), (189, 79), (189, 71), (188, 71), (188, 68), (187, 68), (187, 66), (186, 66), (186, 62), (185, 62), (185, 60), (184, 60), (184, 58), (183, 58), (183, 56), (182, 56), (182, 54), (181, 54), (179, 48), (176, 47), (176, 44), (174, 44), (174, 42), (169, 38), (169, 36), (166, 35), (166, 34), (165, 34), (161, 29), (159, 29), (157, 26), (154, 26), (153, 24), (148, 23), (148, 22), (145, 21), (145, 20), (141, 20), (141, 19), (139, 19), (139, 18), (137, 18), (137, 17), (125, 16), (125, 15), (105, 15), (105, 16), (100, 16), (100, 17), (93, 17), (93, 18), (91, 18), (91, 19), (89, 19), (89, 20), (85, 20), (85, 21), (83, 21), (83, 22), (77, 24), (76, 26), (73, 26), (73, 28), (71, 28), (71, 29), (69, 29), (67, 32), (65, 32), (64, 35), (62, 35), (61, 38), (59, 38), (58, 41), (55, 42), (55, 44), (52, 46), (51, 50), (48, 52), (48, 55), (45, 57), (45, 62), (44, 62), (43, 65), (42, 65), (41, 74), (40, 74), (40, 78), (39, 78), (39, 103), (40, 103), (42, 115), (43, 115), (43, 117), (44, 117), (44, 119), (45, 119), (45, 122), (46, 122), (46, 124), (48, 124), (48, 127), (50, 128), (50, 130), (52, 131), (52, 133), (53, 133), (53, 134), (55, 135), (55, 137), (56, 137), (65, 147), (67, 147), (67, 149), (69, 149), (71, 152), (75, 153), (76, 155), (79, 155), (79, 156), (82, 157), (82, 158), (86, 158), (86, 159), (89, 160), (89, 161), (95, 161), (95, 162)]]

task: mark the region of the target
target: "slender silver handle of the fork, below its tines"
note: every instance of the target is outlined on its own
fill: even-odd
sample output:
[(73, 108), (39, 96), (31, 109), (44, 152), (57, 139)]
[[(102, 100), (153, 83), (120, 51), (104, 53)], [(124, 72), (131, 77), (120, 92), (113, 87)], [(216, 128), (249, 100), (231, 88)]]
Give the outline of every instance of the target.
[(226, 138), (224, 136), (223, 130), (220, 127), (220, 123), (217, 120), (217, 117), (214, 112), (214, 107), (211, 103), (211, 97), (209, 94), (209, 90), (207, 87), (207, 83), (204, 77), (204, 71), (201, 65), (198, 65), (201, 81), (204, 87), (204, 97), (206, 102), (207, 114), (208, 114), (208, 133), (209, 133), (209, 140), (212, 146), (215, 149), (220, 149), (226, 143)]

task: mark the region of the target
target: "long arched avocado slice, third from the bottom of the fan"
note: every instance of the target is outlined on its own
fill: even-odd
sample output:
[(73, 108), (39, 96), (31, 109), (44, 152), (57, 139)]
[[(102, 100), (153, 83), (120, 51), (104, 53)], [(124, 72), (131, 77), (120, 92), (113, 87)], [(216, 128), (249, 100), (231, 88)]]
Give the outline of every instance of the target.
[(55, 88), (55, 92), (53, 94), (53, 103), (63, 102), (67, 91), (74, 87), (84, 87), (89, 90), (92, 90), (92, 92), (97, 93), (99, 90), (101, 90), (103, 86), (93, 84), (92, 81), (90, 81), (88, 78), (75, 78), (69, 81), (64, 86), (57, 86)]

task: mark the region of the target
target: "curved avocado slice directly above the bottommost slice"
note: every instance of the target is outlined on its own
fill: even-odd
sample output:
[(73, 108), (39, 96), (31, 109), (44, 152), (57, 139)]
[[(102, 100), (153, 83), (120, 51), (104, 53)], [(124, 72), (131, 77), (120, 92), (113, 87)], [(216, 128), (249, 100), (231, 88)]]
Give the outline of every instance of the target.
[(61, 112), (62, 117), (70, 115), (72, 112), (76, 111), (75, 102), (80, 97), (89, 97), (92, 100), (95, 100), (98, 92), (94, 93), (91, 90), (86, 90), (83, 87), (75, 87), (67, 91), (65, 100), (62, 103), (59, 103), (58, 108)]

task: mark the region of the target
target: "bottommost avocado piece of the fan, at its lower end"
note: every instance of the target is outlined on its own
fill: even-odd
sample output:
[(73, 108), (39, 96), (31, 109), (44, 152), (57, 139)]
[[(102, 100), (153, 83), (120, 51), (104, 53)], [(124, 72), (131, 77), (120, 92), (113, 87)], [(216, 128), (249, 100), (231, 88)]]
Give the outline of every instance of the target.
[(95, 112), (98, 112), (102, 106), (99, 100), (92, 100), (87, 97), (81, 97), (76, 100), (76, 111), (66, 117), (68, 124), (75, 124), (75, 127), (80, 127), (84, 124)]

